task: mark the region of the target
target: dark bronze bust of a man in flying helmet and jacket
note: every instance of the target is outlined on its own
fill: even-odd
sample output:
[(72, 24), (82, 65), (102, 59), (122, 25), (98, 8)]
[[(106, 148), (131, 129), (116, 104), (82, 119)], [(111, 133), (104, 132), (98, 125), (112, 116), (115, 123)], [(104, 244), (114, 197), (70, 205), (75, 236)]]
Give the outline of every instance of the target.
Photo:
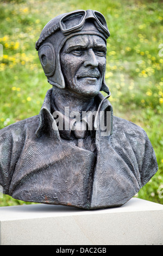
[(43, 28), (36, 50), (52, 89), (39, 115), (0, 131), (5, 194), (83, 209), (121, 206), (158, 170), (146, 132), (114, 117), (106, 99), (109, 35), (92, 10), (59, 15)]

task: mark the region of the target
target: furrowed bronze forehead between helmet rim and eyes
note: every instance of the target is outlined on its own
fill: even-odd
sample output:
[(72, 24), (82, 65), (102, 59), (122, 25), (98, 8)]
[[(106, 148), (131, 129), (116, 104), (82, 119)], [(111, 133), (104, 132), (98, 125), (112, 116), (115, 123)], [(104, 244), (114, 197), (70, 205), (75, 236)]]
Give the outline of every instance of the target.
[(69, 38), (62, 50), (72, 47), (106, 47), (105, 41), (98, 35), (76, 35)]

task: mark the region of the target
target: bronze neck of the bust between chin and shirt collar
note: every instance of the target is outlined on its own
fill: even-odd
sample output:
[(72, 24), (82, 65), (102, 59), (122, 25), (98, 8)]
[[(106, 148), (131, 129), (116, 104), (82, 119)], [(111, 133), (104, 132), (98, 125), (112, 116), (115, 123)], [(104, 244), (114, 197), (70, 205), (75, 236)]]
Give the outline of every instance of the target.
[(89, 111), (95, 105), (95, 98), (85, 99), (80, 95), (77, 95), (70, 90), (60, 89), (58, 87), (53, 86), (53, 94), (52, 99), (55, 102), (55, 106), (59, 111), (64, 112), (65, 107), (69, 107), (71, 111), (78, 111), (82, 113), (82, 111)]

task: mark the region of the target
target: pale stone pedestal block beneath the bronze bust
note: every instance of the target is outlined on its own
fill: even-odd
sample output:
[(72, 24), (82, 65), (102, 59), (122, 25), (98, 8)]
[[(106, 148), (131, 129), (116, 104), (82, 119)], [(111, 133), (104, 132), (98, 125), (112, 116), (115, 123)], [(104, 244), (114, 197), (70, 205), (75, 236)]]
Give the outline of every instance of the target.
[(163, 205), (132, 198), (120, 208), (0, 207), (1, 245), (162, 245)]

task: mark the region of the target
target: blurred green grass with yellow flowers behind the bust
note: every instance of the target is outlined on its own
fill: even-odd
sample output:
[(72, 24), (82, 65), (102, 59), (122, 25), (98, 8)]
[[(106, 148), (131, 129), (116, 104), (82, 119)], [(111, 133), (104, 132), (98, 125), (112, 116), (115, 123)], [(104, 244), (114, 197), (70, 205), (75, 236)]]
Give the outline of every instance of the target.
[[(163, 204), (162, 1), (1, 0), (0, 129), (39, 114), (51, 85), (41, 68), (35, 41), (49, 20), (76, 9), (97, 10), (106, 18), (111, 34), (106, 83), (114, 115), (147, 132), (159, 164), (158, 172), (136, 197)], [(1, 197), (0, 206), (24, 204)]]

